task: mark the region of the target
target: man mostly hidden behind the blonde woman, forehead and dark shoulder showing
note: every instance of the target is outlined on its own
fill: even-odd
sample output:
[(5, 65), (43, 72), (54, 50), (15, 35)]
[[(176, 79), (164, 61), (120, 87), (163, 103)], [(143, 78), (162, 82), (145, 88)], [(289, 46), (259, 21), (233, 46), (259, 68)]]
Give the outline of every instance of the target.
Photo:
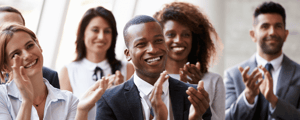
[[(15, 22), (21, 25), (25, 25), (25, 20), (20, 11), (10, 6), (1, 6), (0, 7), (0, 25), (5, 22)], [(8, 74), (6, 75), (6, 80), (8, 78)], [(51, 70), (47, 67), (43, 67), (43, 77), (46, 78), (49, 83), (56, 88), (60, 88), (57, 72)], [(1, 79), (0, 79), (1, 81)]]

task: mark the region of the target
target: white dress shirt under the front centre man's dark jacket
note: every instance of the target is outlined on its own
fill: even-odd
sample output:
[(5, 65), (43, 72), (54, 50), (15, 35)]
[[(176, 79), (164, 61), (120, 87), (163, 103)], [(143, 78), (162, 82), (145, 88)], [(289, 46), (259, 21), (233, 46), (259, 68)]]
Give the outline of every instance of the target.
[[(140, 77), (137, 76), (136, 73), (134, 73), (133, 76), (133, 82), (136, 85), (140, 97), (141, 97), (141, 103), (143, 106), (143, 114), (144, 114), (144, 119), (149, 120), (150, 119), (150, 109), (151, 109), (151, 102), (150, 102), (150, 93), (153, 90), (154, 86), (149, 84), (148, 82), (142, 80)], [(161, 96), (163, 102), (167, 106), (168, 109), (168, 120), (173, 120), (173, 111), (172, 111), (172, 104), (170, 101), (170, 94), (169, 94), (169, 80), (166, 80), (163, 83), (163, 94)], [(154, 120), (156, 119), (156, 115), (153, 109), (154, 113)]]

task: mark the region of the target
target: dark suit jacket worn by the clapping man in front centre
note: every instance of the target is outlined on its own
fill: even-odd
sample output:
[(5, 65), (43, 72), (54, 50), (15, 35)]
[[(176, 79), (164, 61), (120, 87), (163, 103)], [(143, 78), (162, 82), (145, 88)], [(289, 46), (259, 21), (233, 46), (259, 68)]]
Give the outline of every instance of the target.
[[(189, 86), (179, 80), (169, 79), (169, 91), (175, 120), (187, 120), (191, 103), (187, 99), (186, 90)], [(143, 108), (140, 95), (133, 77), (125, 83), (106, 90), (96, 103), (96, 120), (143, 120)], [(210, 120), (210, 109), (203, 115)]]

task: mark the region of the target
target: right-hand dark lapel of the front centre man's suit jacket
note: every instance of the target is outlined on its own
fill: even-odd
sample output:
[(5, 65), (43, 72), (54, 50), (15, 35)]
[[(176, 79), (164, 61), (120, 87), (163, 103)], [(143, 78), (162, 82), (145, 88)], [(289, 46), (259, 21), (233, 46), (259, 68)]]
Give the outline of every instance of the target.
[(170, 91), (170, 98), (173, 110), (173, 116), (175, 120), (182, 120), (183, 119), (183, 108), (184, 108), (184, 95), (178, 94), (180, 93), (180, 89), (182, 87), (178, 84), (178, 80), (173, 78), (169, 78), (169, 91)]

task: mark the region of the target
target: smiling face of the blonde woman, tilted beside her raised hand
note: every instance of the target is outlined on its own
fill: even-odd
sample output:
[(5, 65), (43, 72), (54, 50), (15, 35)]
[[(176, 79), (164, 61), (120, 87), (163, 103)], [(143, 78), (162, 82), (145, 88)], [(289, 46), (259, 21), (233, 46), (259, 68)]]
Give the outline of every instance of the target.
[[(37, 73), (42, 74), (43, 55), (42, 49), (31, 36), (23, 31), (15, 32), (6, 45), (6, 61), (8, 68), (13, 65), (15, 55), (20, 56), (28, 77)], [(11, 68), (10, 68), (11, 70)]]

